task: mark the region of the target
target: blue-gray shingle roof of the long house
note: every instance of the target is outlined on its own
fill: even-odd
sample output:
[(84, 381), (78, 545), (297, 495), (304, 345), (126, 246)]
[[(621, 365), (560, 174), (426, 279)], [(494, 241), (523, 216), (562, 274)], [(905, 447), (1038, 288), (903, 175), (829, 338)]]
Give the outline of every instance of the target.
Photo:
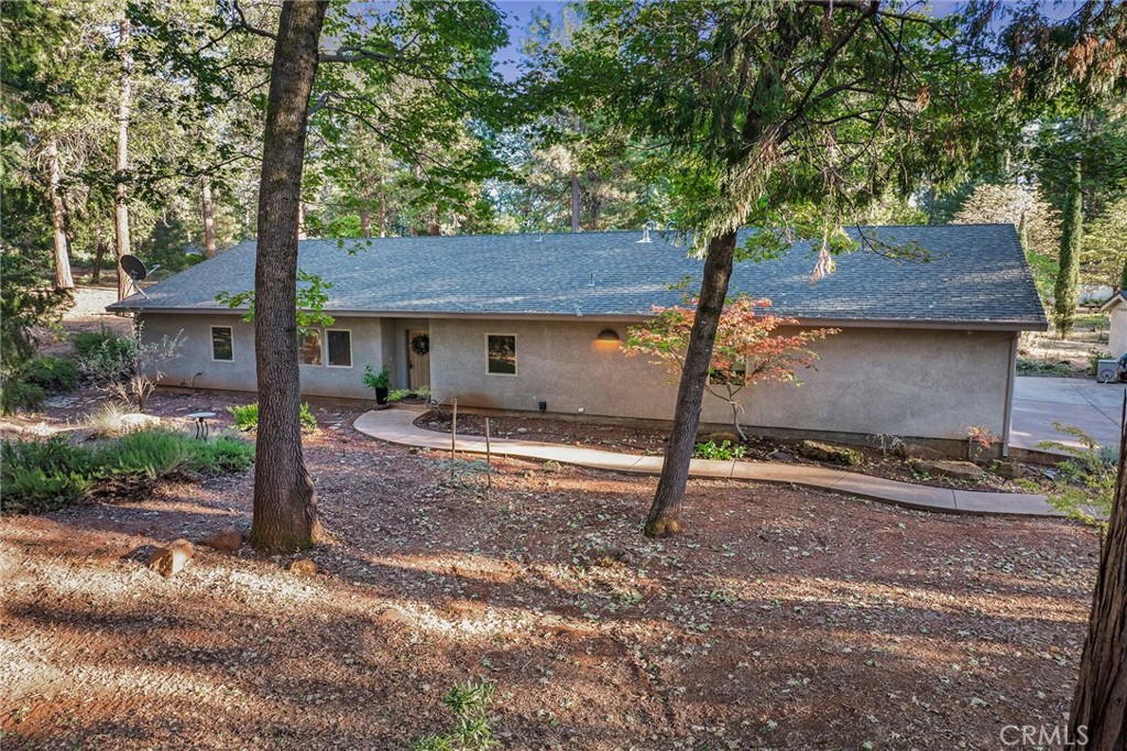
[[(965, 324), (1045, 328), (1045, 311), (1009, 224), (867, 228), (881, 240), (916, 242), (928, 263), (861, 250), (837, 258), (810, 284), (815, 251), (797, 242), (782, 257), (736, 264), (731, 294), (770, 298), (806, 320)], [(855, 232), (854, 232), (855, 235)], [(660, 232), (579, 232), (302, 240), (299, 265), (332, 282), (329, 312), (389, 315), (646, 316), (681, 301), (671, 285), (699, 289), (702, 262)], [(353, 253), (349, 253), (352, 250)], [(225, 311), (222, 291), (254, 285), (247, 241), (133, 295), (112, 310)]]

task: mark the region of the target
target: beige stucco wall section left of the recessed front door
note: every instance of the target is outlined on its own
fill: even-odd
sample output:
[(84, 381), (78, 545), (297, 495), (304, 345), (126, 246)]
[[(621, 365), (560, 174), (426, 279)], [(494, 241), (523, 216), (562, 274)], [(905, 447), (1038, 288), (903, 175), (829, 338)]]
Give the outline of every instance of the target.
[[(255, 381), (255, 333), (251, 324), (239, 316), (212, 315), (163, 315), (147, 313), (143, 336), (145, 339), (174, 337), (184, 332), (184, 343), (176, 360), (161, 370), (166, 386), (183, 386), (204, 389), (231, 389), (254, 391)], [(219, 362), (212, 360), (211, 327), (232, 327), (234, 360)], [(384, 357), (383, 323), (379, 318), (338, 318), (330, 329), (352, 332), (352, 368), (321, 365), (301, 366), (301, 390), (310, 396), (332, 396), (370, 398), (372, 390), (363, 385), (364, 365), (372, 363), (379, 370)], [(325, 336), (321, 336), (322, 362), (328, 353)]]

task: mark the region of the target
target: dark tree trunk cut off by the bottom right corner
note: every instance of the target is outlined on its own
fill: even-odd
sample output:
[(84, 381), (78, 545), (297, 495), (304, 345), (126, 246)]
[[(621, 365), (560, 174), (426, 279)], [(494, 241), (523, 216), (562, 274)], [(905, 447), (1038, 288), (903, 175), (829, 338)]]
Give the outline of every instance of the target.
[[(1122, 414), (1127, 415), (1127, 405)], [(1127, 749), (1127, 430), (1122, 425), (1119, 478), (1100, 550), (1068, 740), (1088, 751)]]

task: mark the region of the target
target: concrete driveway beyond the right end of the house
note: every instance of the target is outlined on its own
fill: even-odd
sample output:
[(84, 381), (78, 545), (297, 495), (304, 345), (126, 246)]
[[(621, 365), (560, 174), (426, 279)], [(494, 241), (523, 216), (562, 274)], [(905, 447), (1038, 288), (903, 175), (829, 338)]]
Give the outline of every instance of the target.
[(1119, 443), (1122, 383), (1097, 383), (1094, 379), (1019, 376), (1013, 391), (1010, 445), (1036, 449), (1041, 441), (1079, 445), (1058, 433), (1053, 423), (1075, 425), (1100, 445)]

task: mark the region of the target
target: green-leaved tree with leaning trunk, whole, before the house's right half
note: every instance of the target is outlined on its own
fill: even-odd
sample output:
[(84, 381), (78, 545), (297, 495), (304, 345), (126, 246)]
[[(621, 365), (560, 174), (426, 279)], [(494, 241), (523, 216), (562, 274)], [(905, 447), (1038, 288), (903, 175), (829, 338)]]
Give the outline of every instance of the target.
[(984, 77), (949, 44), (953, 30), (951, 20), (869, 2), (601, 2), (556, 53), (549, 68), (577, 112), (664, 147), (677, 227), (704, 258), (648, 534), (681, 529), (733, 263), (786, 246), (761, 230), (737, 248), (737, 230), (818, 238), (817, 279), (834, 253), (857, 248), (842, 230), (849, 218), (889, 192), (956, 177), (987, 129), (974, 106)]

